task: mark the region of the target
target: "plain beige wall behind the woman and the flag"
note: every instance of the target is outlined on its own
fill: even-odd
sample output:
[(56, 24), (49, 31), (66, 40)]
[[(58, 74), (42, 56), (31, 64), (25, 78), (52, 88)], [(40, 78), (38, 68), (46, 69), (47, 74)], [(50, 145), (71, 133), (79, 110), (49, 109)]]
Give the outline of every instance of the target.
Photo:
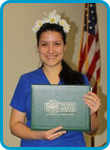
[[(62, 9), (61, 9), (62, 8)], [(21, 74), (38, 67), (39, 56), (36, 48), (35, 34), (32, 27), (37, 19), (44, 17), (43, 12), (57, 10), (71, 24), (71, 32), (67, 38), (65, 59), (77, 70), (80, 48), (83, 3), (9, 3), (3, 11), (3, 140), (9, 147), (19, 146), (19, 139), (11, 135), (9, 119), (13, 92)], [(43, 11), (42, 11), (43, 10)], [(98, 95), (101, 98), (99, 110), (100, 129), (95, 136), (95, 146), (102, 145), (107, 139), (107, 9), (103, 4), (97, 4), (99, 38), (101, 49), (101, 82)], [(86, 136), (87, 146), (90, 137)]]

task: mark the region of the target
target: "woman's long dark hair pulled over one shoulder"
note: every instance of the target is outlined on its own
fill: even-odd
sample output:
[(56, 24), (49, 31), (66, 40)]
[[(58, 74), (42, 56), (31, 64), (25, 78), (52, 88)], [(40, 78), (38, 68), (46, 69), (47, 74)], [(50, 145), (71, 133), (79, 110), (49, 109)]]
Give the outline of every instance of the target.
[[(43, 32), (46, 32), (46, 31), (56, 31), (56, 32), (61, 33), (64, 45), (66, 44), (66, 33), (64, 32), (63, 27), (60, 26), (59, 24), (45, 23), (42, 25), (40, 30), (36, 33), (38, 47), (39, 47), (40, 36)], [(75, 70), (72, 70), (71, 67), (64, 60), (62, 60), (62, 70), (59, 76), (60, 76), (61, 81), (64, 84), (68, 84), (68, 85), (84, 84), (84, 79), (83, 79), (82, 74), (80, 74), (79, 72)]]

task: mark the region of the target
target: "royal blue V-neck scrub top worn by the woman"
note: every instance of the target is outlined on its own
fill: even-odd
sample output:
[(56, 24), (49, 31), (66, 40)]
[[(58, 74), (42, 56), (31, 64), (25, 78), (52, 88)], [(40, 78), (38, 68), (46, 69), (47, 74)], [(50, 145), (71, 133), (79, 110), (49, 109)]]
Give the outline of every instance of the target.
[[(85, 84), (89, 81), (83, 75)], [(35, 71), (26, 73), (19, 79), (18, 85), (15, 89), (11, 107), (20, 112), (25, 112), (27, 116), (26, 125), (31, 126), (31, 85), (32, 84), (50, 84), (46, 78), (43, 69), (39, 68)], [(61, 81), (59, 84), (62, 84)], [(25, 140), (21, 139), (21, 147), (85, 147), (83, 133), (81, 131), (68, 131), (61, 137), (48, 141), (48, 140)]]

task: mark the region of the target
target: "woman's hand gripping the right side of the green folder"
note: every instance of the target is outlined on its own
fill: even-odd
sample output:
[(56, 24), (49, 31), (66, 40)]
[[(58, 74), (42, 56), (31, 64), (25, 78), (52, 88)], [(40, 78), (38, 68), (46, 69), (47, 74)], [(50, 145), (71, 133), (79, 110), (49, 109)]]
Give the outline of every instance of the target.
[(95, 112), (97, 112), (101, 105), (99, 97), (93, 92), (88, 92), (88, 94), (85, 94), (84, 101), (91, 110), (90, 115), (93, 115)]

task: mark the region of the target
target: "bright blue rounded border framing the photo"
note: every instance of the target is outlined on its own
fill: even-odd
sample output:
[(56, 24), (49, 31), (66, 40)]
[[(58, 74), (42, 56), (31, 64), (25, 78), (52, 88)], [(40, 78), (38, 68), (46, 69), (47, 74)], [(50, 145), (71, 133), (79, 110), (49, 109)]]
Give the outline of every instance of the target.
[[(55, 0), (53, 3), (102, 3), (106, 6), (107, 8), (107, 67), (110, 66), (110, 7), (105, 1), (101, 0)], [(1, 145), (7, 149), (7, 150), (15, 150), (15, 149), (23, 149), (23, 150), (31, 150), (31, 149), (50, 149), (52, 148), (53, 150), (72, 150), (73, 147), (7, 147), (3, 143), (3, 8), (5, 5), (8, 3), (52, 3), (51, 0), (8, 0), (2, 3), (0, 7), (0, 118), (1, 118), (1, 124), (0, 124), (0, 143)], [(110, 88), (110, 69), (107, 69), (107, 143), (103, 147), (74, 147), (75, 150), (83, 150), (83, 149), (105, 149), (110, 143), (110, 93), (109, 93), (109, 88)]]

